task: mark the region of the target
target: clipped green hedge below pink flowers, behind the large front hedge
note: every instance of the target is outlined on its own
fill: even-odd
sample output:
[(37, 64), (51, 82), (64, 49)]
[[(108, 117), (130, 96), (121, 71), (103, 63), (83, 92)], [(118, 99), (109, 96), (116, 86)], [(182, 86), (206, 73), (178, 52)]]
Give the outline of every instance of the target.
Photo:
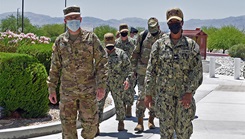
[(49, 73), (52, 55), (52, 44), (33, 44), (31, 46), (18, 47), (17, 53), (29, 54), (42, 63)]

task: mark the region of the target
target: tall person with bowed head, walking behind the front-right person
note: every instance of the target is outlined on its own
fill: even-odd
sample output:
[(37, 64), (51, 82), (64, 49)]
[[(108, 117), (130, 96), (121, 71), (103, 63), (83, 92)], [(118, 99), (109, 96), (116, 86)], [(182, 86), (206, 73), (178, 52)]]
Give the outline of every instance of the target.
[[(138, 37), (137, 47), (133, 51), (133, 55), (131, 57), (131, 64), (133, 67), (133, 71), (137, 73), (137, 84), (138, 84), (138, 100), (136, 102), (136, 117), (138, 118), (138, 125), (134, 130), (142, 132), (144, 130), (143, 126), (143, 117), (145, 113), (145, 104), (144, 104), (144, 80), (146, 67), (148, 64), (148, 60), (150, 57), (152, 44), (159, 38), (163, 37), (165, 34), (160, 30), (160, 26), (158, 20), (154, 17), (151, 17), (148, 20), (148, 30), (142, 31)], [(145, 38), (144, 38), (145, 37)], [(144, 39), (144, 40), (143, 40)], [(140, 46), (142, 45), (142, 46)], [(151, 90), (154, 94), (154, 91)], [(153, 107), (149, 109), (149, 119), (148, 119), (148, 127), (150, 129), (155, 128), (154, 125), (154, 111)]]

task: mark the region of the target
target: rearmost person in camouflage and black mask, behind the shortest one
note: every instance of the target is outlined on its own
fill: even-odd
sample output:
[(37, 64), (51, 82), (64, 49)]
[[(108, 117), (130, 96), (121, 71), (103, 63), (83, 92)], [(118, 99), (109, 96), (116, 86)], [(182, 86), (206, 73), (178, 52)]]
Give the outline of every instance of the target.
[[(119, 32), (120, 37), (116, 39), (115, 47), (124, 50), (127, 56), (130, 58), (133, 54), (133, 50), (136, 47), (136, 40), (128, 36), (128, 25), (120, 24)], [(126, 117), (131, 117), (132, 112), (131, 108), (134, 103), (134, 95), (135, 95), (135, 78), (130, 81), (130, 87), (127, 91), (125, 91), (124, 97), (124, 106), (126, 111)]]

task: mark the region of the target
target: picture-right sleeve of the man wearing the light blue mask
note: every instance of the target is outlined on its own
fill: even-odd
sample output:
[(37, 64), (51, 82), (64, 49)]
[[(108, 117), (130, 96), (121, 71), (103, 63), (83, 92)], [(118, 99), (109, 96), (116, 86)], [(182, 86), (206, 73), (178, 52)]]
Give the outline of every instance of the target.
[(95, 76), (96, 76), (96, 86), (98, 88), (106, 88), (106, 79), (108, 68), (107, 63), (107, 53), (105, 49), (101, 46), (101, 42), (98, 37), (93, 34), (94, 42), (94, 65), (95, 65)]

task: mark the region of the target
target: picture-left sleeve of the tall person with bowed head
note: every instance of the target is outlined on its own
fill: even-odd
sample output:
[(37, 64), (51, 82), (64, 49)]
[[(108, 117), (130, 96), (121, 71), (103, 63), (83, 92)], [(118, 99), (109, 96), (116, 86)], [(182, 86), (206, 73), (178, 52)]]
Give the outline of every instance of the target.
[(136, 71), (138, 60), (140, 59), (140, 43), (139, 42), (141, 42), (141, 40), (142, 40), (142, 35), (140, 34), (136, 42), (135, 49), (133, 50), (132, 57), (130, 59), (133, 71)]

